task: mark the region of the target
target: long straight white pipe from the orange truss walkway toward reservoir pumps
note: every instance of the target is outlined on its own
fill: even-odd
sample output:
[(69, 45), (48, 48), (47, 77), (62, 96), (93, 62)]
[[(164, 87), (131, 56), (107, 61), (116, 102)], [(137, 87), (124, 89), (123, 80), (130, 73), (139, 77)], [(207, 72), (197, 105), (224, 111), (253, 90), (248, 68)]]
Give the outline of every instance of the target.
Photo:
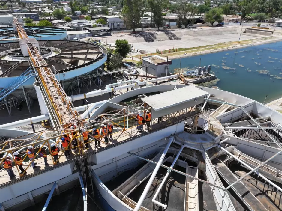
[[(157, 81), (162, 81), (162, 80), (165, 80), (165, 79), (176, 78), (176, 77), (179, 77), (179, 76), (178, 75), (171, 75), (171, 76), (165, 76), (165, 77), (152, 79), (152, 80), (148, 80), (148, 81), (143, 81), (143, 82), (137, 81), (135, 83), (128, 84), (128, 85), (112, 87), (112, 88), (104, 89), (104, 90), (99, 89), (99, 90), (87, 92), (87, 93), (84, 93), (84, 94), (71, 95), (68, 98), (71, 102), (73, 102), (73, 101), (82, 100), (82, 99), (85, 99), (85, 98), (88, 98), (88, 97), (95, 97), (95, 96), (107, 94), (107, 93), (110, 93), (110, 92), (119, 91), (119, 90), (122, 90), (122, 89), (132, 88), (132, 87), (135, 87), (135, 86), (141, 86), (141, 85), (144, 85), (148, 82), (154, 83), (154, 82), (157, 82)], [(132, 80), (132, 81), (134, 81), (134, 80)], [(124, 83), (127, 83), (127, 81), (125, 81)]]

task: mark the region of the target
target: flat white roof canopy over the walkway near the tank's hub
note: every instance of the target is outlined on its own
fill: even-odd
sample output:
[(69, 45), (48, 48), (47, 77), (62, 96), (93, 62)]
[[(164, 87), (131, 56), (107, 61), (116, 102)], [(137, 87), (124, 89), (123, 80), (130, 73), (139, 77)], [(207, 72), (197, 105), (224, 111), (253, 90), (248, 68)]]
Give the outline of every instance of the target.
[(208, 94), (206, 91), (189, 85), (150, 97), (144, 97), (141, 100), (152, 108), (152, 117), (158, 118), (199, 105), (204, 102), (204, 97), (208, 96)]

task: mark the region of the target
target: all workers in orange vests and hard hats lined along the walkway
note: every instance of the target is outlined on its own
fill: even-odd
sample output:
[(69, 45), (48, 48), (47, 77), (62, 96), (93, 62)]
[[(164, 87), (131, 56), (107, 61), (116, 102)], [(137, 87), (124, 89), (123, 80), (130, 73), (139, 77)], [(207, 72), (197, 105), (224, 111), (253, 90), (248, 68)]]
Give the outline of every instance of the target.
[[(147, 125), (147, 129), (150, 130), (150, 123), (151, 123), (151, 113), (149, 112), (149, 110), (146, 111), (146, 115), (145, 118), (142, 116), (141, 113), (138, 113), (136, 116), (136, 122), (137, 122), (137, 129), (139, 130), (139, 132), (143, 131), (143, 125), (146, 123)], [(74, 129), (73, 126), (70, 126), (70, 129)], [(107, 123), (107, 126), (105, 124), (101, 124), (101, 128), (96, 129), (93, 128), (89, 131), (87, 130), (83, 130), (82, 132), (82, 136), (83, 136), (83, 142), (85, 144), (85, 150), (87, 150), (87, 148), (89, 148), (89, 138), (88, 135), (91, 135), (93, 137), (93, 140), (95, 141), (95, 146), (100, 145), (100, 139), (104, 138), (105, 139), (105, 143), (109, 142), (109, 136), (110, 139), (113, 140), (112, 138), (112, 133), (113, 133), (113, 124), (112, 123)], [(66, 156), (66, 158), (70, 158), (70, 149), (73, 149), (73, 151), (75, 152), (78, 148), (78, 140), (75, 137), (75, 132), (71, 132), (70, 133), (72, 135), (72, 140), (70, 138), (70, 136), (68, 135), (64, 135), (64, 137), (61, 138), (61, 150), (64, 151), (64, 155)], [(71, 143), (70, 143), (71, 141)], [(70, 144), (72, 144), (72, 146), (70, 146)], [(52, 155), (54, 162), (58, 163), (58, 154), (60, 152), (60, 149), (56, 146), (55, 143), (51, 144), (51, 151), (50, 154)], [(32, 164), (32, 168), (37, 168), (36, 164), (34, 162), (35, 160), (35, 149), (32, 145), (28, 146), (27, 148), (27, 156), (29, 157), (31, 164)], [(45, 166), (48, 166), (48, 162), (47, 162), (47, 153), (44, 150), (43, 146), (40, 146), (40, 151), (38, 152), (38, 155), (40, 157), (42, 157), (44, 159), (44, 164)], [(21, 171), (20, 174), (26, 174), (25, 169), (22, 167), (22, 157), (18, 152), (14, 152), (13, 153), (14, 156), (14, 160), (19, 168), (19, 170)], [(3, 167), (7, 170), (9, 177), (12, 179), (13, 177), (15, 177), (16, 175), (13, 173), (13, 169), (12, 169), (12, 159), (10, 157), (6, 157), (4, 159), (3, 162)]]

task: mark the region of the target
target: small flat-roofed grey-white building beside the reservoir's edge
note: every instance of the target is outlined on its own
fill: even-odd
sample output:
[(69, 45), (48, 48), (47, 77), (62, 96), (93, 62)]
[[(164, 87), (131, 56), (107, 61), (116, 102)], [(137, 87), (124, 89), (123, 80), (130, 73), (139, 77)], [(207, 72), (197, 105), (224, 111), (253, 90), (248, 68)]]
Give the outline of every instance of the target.
[(161, 56), (147, 56), (143, 57), (143, 64), (149, 64), (147, 67), (143, 67), (143, 73), (149, 73), (154, 76), (166, 76), (169, 74), (171, 60), (163, 58)]

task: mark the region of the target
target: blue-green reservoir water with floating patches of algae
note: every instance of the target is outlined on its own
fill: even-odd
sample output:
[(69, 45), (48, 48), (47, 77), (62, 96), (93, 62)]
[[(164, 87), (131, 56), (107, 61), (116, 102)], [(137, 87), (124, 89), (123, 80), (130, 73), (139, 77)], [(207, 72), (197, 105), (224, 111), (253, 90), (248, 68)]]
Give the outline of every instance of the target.
[[(182, 58), (181, 67), (211, 65), (220, 79), (217, 86), (225, 91), (270, 102), (282, 97), (282, 42)], [(174, 59), (170, 70), (179, 68)], [(264, 74), (263, 74), (264, 73)]]

